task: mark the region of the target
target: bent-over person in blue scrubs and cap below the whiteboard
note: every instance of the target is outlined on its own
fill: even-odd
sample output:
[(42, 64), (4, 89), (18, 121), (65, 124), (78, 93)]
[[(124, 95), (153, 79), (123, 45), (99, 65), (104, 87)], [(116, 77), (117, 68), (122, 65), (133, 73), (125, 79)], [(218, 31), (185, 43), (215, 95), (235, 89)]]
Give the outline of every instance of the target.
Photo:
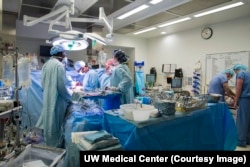
[(228, 81), (234, 76), (232, 69), (226, 69), (215, 75), (209, 83), (208, 93), (221, 94), (219, 101), (225, 101), (225, 95), (235, 98), (235, 93), (229, 88)]

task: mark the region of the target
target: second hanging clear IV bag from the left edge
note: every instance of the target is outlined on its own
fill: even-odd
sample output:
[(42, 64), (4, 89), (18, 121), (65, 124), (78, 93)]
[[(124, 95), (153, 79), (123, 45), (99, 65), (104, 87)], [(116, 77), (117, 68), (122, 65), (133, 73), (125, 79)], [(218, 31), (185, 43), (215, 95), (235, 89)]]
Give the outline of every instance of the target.
[(19, 86), (29, 87), (31, 84), (30, 80), (30, 61), (27, 57), (21, 57), (17, 63), (18, 67), (18, 82)]

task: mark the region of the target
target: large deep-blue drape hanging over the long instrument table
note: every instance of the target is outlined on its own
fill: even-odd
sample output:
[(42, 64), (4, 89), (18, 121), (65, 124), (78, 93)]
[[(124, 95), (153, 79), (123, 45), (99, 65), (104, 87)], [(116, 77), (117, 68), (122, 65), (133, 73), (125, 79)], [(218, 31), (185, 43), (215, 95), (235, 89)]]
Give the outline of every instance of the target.
[(209, 104), (165, 121), (155, 119), (145, 125), (105, 113), (104, 129), (120, 140), (124, 150), (208, 151), (235, 150), (237, 146), (235, 122), (225, 103)]

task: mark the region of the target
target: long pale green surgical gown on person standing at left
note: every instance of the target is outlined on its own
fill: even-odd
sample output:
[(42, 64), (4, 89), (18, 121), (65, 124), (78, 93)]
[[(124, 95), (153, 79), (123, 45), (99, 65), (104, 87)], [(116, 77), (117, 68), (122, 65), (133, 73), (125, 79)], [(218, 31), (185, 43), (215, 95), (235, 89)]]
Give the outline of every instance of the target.
[(50, 58), (42, 69), (43, 108), (36, 127), (43, 129), (48, 146), (61, 146), (61, 127), (70, 102), (66, 87), (65, 68), (55, 58)]

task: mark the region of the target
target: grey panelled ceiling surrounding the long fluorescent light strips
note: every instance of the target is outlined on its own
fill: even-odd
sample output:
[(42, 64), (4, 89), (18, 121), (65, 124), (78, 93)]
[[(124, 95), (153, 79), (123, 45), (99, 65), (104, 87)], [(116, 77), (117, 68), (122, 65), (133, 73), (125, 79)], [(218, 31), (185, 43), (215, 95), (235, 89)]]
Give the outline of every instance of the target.
[[(32, 17), (41, 17), (50, 13), (58, 0), (3, 0), (2, 1), (2, 25), (1, 30), (4, 34), (15, 35), (15, 21), (22, 20), (23, 15)], [(88, 6), (87, 0), (76, 0), (79, 6)], [(131, 35), (139, 30), (143, 30), (160, 23), (169, 22), (185, 16), (212, 9), (224, 4), (238, 2), (239, 0), (164, 0), (157, 5), (150, 5), (143, 12), (134, 14), (124, 20), (117, 17), (127, 11), (138, 7), (141, 4), (149, 4), (150, 0), (97, 0), (94, 4), (77, 17), (80, 18), (96, 18), (99, 16), (99, 7), (103, 7), (109, 19), (113, 19), (113, 32), (115, 34)], [(159, 36), (162, 31), (166, 34), (176, 33), (196, 27), (212, 25), (240, 17), (250, 15), (250, 0), (243, 0), (245, 5), (229, 9), (227, 11), (215, 14), (193, 18), (183, 23), (171, 25), (164, 28), (136, 35), (137, 37), (152, 38)], [(0, 8), (1, 9), (1, 8)], [(96, 26), (95, 23), (72, 23), (73, 27), (91, 29)]]

